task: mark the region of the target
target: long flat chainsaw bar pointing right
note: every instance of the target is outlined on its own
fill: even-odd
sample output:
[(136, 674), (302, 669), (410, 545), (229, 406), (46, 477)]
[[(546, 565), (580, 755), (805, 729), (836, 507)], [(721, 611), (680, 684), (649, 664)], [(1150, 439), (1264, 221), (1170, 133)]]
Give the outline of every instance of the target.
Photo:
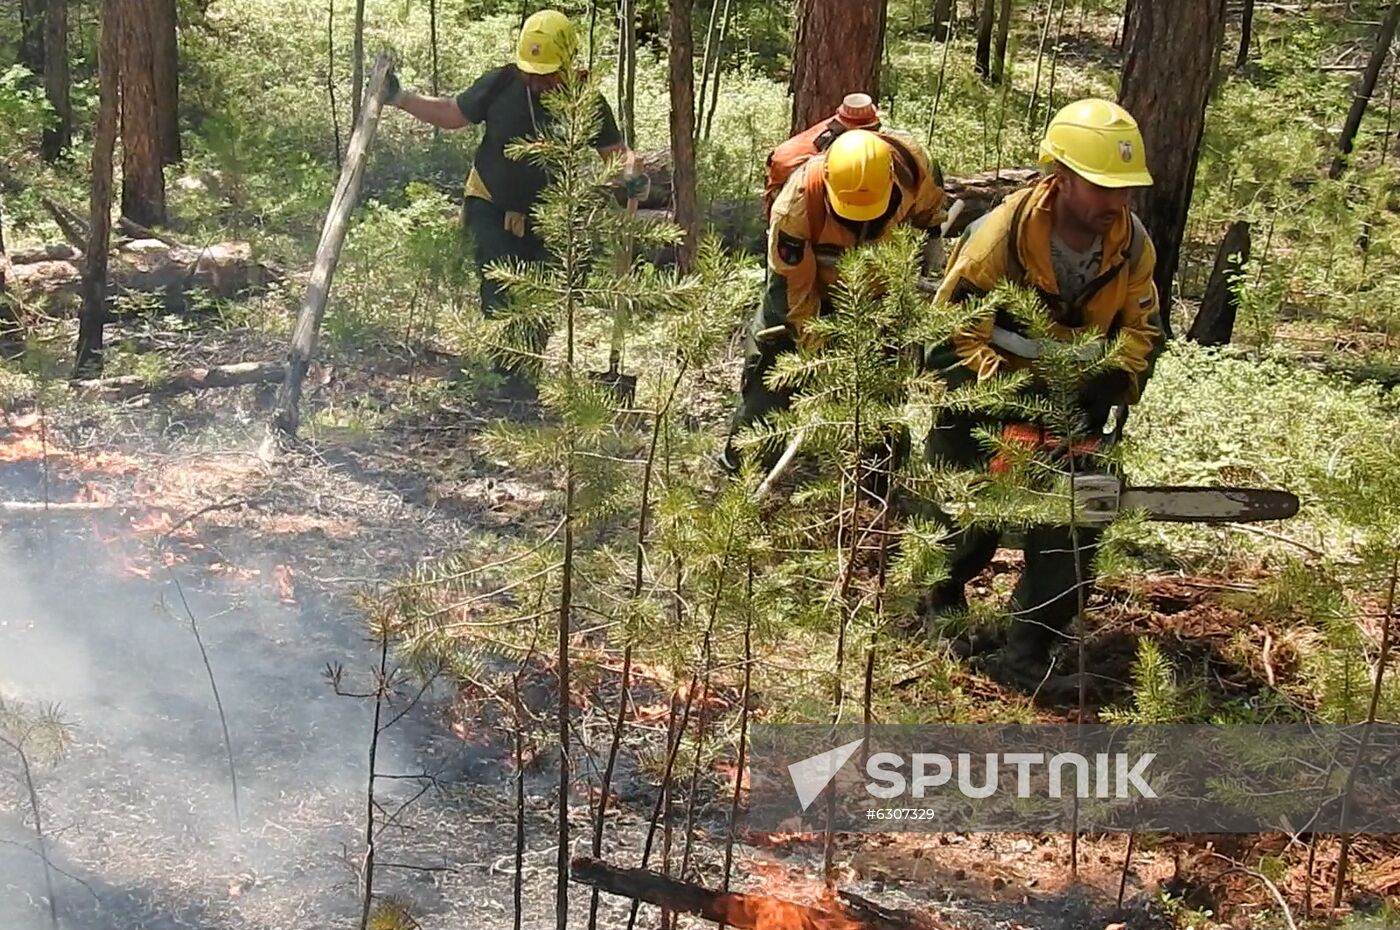
[(1117, 479), (1084, 475), (1075, 480), (1084, 522), (1112, 522), (1123, 513), (1145, 513), (1166, 522), (1264, 522), (1298, 515), (1298, 497), (1263, 487), (1124, 487)]

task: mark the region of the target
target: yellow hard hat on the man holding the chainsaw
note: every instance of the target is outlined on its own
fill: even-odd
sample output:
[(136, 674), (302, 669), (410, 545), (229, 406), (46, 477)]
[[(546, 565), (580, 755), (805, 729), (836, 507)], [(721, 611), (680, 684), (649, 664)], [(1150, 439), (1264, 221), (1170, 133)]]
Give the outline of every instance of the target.
[(1100, 188), (1152, 183), (1137, 120), (1106, 99), (1079, 99), (1054, 115), (1040, 141), (1040, 162), (1051, 161)]

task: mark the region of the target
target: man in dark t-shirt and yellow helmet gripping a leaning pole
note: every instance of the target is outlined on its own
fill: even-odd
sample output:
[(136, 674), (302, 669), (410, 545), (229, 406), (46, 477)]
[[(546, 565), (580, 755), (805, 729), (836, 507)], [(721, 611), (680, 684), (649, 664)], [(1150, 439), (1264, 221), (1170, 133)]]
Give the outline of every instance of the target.
[[(482, 123), (486, 127), (476, 150), (476, 162), (466, 178), (463, 223), (472, 234), (477, 275), (482, 280), (482, 312), (494, 317), (505, 307), (504, 290), (486, 277), (486, 268), (503, 259), (543, 262), (549, 249), (533, 228), (531, 209), (549, 183), (546, 171), (531, 162), (517, 161), (505, 150), (524, 140), (539, 139), (554, 115), (543, 97), (557, 88), (561, 73), (573, 67), (578, 39), (568, 17), (557, 10), (542, 10), (521, 28), (515, 62), (483, 74), (456, 97), (424, 97), (405, 91), (389, 73), (388, 102), (438, 129), (463, 129)], [(612, 108), (598, 98), (599, 127), (592, 144), (603, 157), (623, 157), (623, 186), (629, 199), (647, 195), (648, 181), (638, 172), (637, 157), (627, 148)], [(549, 333), (528, 333), (528, 345), (540, 352)], [(503, 371), (518, 388), (518, 371)]]

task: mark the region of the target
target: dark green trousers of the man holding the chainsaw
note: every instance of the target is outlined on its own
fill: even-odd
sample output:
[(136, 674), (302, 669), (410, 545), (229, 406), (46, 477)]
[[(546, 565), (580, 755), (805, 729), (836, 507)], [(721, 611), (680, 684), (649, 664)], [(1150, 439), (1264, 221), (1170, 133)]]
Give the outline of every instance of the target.
[[(946, 416), (928, 433), (924, 452), (930, 462), (955, 468), (986, 468), (990, 452), (977, 443), (977, 426), (997, 429), (1000, 424), (979, 422), (969, 416)], [(946, 514), (939, 520), (949, 528), (956, 522)], [(1075, 538), (1078, 536), (1078, 560)], [(1102, 532), (1079, 527), (1030, 527), (1025, 532), (1026, 564), (1011, 594), (1012, 625), (1008, 646), (1019, 653), (1043, 653), (1061, 639), (1079, 609), (1079, 583), (1088, 597), (1093, 583), (1093, 556)], [(949, 578), (931, 592), (930, 606), (935, 612), (965, 609), (967, 583), (987, 564), (1001, 541), (1001, 532), (984, 528), (958, 529), (948, 541)]]

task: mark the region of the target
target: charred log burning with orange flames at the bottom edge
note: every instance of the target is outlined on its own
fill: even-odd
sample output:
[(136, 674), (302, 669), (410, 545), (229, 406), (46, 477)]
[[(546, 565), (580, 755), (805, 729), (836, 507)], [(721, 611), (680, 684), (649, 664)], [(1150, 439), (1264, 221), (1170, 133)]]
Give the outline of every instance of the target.
[(633, 898), (678, 913), (690, 913), (738, 930), (938, 930), (925, 913), (893, 910), (858, 895), (799, 905), (781, 898), (729, 891), (661, 875), (647, 868), (617, 868), (578, 857), (570, 877), (622, 898)]

